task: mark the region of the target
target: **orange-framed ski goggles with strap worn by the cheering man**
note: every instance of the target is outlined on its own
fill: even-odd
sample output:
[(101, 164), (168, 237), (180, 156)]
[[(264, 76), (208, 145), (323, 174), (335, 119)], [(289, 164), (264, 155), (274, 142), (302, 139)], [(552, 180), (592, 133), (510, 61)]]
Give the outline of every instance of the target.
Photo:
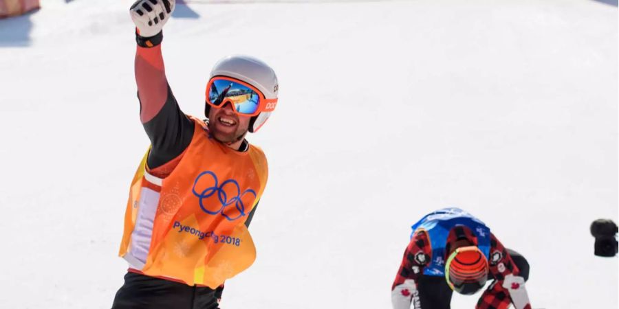
[(221, 108), (232, 104), (235, 113), (255, 116), (275, 109), (277, 99), (267, 99), (256, 87), (227, 76), (215, 76), (206, 84), (206, 103)]

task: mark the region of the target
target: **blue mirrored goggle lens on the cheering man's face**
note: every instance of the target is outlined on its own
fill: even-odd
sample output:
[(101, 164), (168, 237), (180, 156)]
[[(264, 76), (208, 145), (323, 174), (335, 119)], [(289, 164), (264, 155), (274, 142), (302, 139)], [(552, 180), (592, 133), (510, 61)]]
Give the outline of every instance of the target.
[(238, 82), (231, 80), (213, 80), (208, 89), (208, 100), (210, 104), (221, 106), (226, 101), (230, 101), (237, 113), (252, 114), (258, 110), (260, 105), (260, 95)]

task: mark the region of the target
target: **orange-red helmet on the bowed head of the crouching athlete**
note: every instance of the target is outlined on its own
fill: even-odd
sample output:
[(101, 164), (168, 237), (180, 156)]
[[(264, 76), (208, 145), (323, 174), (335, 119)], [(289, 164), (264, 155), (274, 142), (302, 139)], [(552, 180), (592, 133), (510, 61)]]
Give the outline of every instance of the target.
[(475, 246), (457, 248), (445, 264), (445, 279), (452, 290), (473, 295), (484, 288), (488, 279), (488, 260)]

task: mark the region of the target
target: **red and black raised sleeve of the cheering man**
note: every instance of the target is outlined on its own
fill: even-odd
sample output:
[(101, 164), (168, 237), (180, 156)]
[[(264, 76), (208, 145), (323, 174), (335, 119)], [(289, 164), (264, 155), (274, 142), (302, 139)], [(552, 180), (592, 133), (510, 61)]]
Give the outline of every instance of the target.
[(193, 137), (193, 122), (182, 113), (166, 78), (161, 51), (162, 32), (151, 38), (136, 35), (135, 82), (140, 120), (151, 140), (149, 168), (180, 155)]

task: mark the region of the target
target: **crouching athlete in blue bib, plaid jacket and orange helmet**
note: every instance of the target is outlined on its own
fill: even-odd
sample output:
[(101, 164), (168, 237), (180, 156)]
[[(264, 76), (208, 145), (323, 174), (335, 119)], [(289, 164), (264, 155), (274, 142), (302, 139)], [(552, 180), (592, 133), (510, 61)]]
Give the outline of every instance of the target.
[[(479, 297), (477, 309), (531, 309), (525, 281), (529, 264), (506, 249), (484, 222), (458, 208), (424, 216), (391, 286), (394, 309), (449, 309), (453, 291)], [(412, 307), (411, 307), (412, 305)]]

